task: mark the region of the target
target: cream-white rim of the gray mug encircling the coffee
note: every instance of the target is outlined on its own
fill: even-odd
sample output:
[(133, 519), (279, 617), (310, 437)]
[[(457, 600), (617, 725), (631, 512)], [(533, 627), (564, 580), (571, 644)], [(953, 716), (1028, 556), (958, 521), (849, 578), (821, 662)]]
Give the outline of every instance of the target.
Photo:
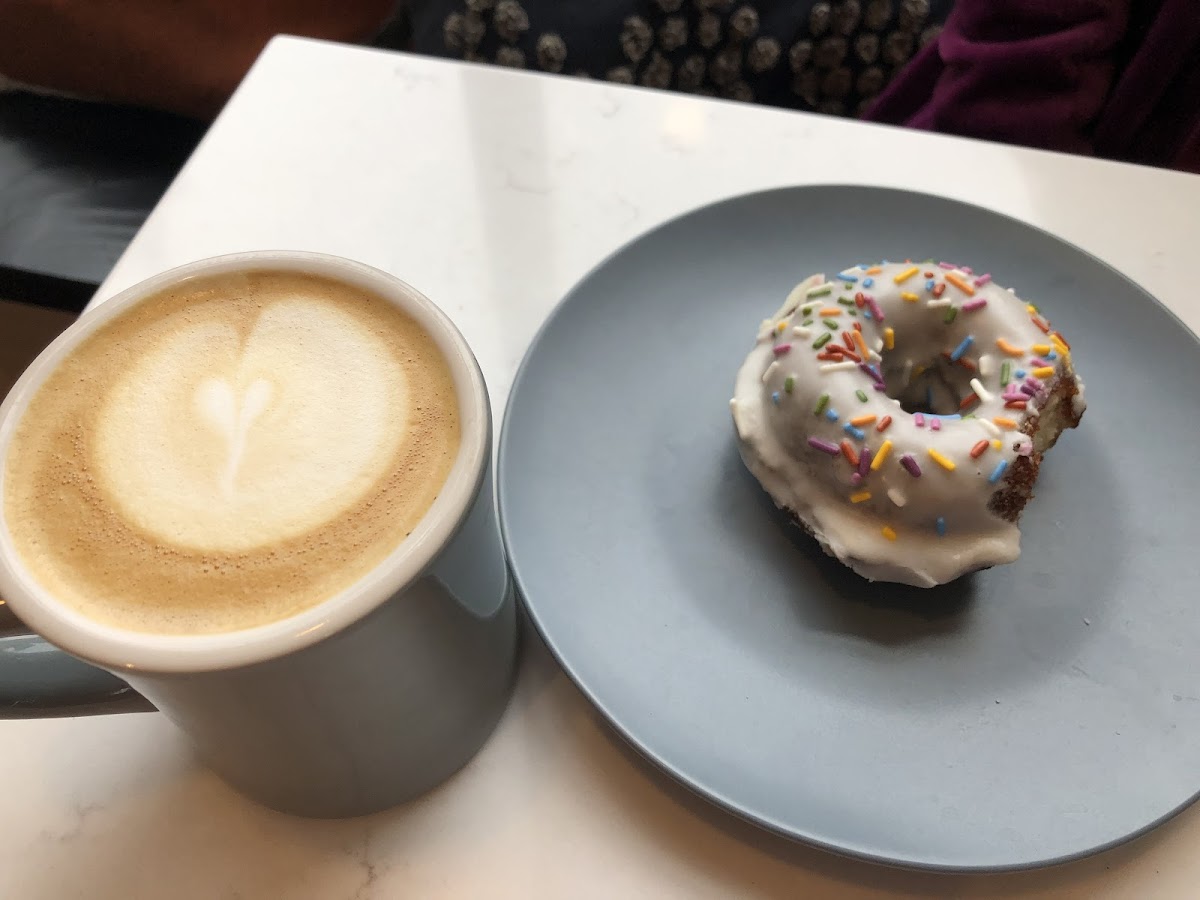
[[(412, 316), (450, 367), (460, 413), (458, 455), (413, 532), (366, 575), (301, 612), (250, 629), (204, 635), (156, 635), (90, 619), (43, 588), (16, 550), (4, 503), (12, 434), (50, 373), (103, 324), (164, 288), (241, 270), (330, 277), (364, 288)], [(450, 318), (416, 288), (382, 269), (328, 253), (259, 250), (197, 259), (145, 278), (83, 313), (38, 354), (0, 404), (0, 593), (32, 631), (118, 673), (205, 672), (265, 662), (350, 628), (420, 577), (474, 506), (491, 446), (491, 403), (479, 361)]]

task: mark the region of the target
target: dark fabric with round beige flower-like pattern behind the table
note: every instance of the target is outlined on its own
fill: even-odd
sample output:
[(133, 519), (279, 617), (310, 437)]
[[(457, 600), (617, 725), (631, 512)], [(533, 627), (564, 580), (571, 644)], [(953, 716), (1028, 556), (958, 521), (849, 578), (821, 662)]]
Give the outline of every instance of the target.
[(953, 0), (410, 0), (412, 49), (857, 115)]

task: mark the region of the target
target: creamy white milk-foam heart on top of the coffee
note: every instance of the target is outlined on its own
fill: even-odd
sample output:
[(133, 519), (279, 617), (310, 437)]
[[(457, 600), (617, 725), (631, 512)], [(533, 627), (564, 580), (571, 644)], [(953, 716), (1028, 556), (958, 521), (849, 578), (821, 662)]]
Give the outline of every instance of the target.
[(247, 551), (316, 528), (389, 469), (408, 386), (386, 344), (293, 298), (248, 335), (184, 323), (119, 377), (92, 460), (122, 515), (168, 544)]

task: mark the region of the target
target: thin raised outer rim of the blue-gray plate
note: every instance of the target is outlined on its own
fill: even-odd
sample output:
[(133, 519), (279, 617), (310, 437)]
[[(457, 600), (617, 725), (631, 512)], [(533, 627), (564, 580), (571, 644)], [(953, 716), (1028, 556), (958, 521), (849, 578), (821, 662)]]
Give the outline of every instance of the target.
[(1176, 325), (1178, 325), (1178, 328), (1182, 329), (1184, 334), (1189, 335), (1192, 340), (1198, 344), (1198, 349), (1200, 349), (1200, 335), (1193, 331), (1187, 325), (1187, 323), (1184, 323), (1183, 319), (1175, 313), (1174, 310), (1166, 306), (1166, 304), (1164, 304), (1162, 300), (1159, 300), (1157, 296), (1150, 293), (1142, 284), (1134, 281), (1130, 276), (1122, 272), (1111, 263), (1108, 263), (1106, 260), (1096, 256), (1091, 251), (1087, 251), (1084, 247), (1080, 247), (1079, 245), (1074, 244), (1073, 241), (1069, 241), (1066, 238), (1061, 238), (1046, 230), (1045, 228), (1042, 228), (1040, 226), (1026, 222), (1025, 220), (1009, 215), (1007, 212), (1000, 212), (997, 210), (988, 209), (986, 206), (983, 206), (978, 203), (961, 200), (956, 197), (946, 197), (942, 194), (928, 193), (925, 191), (913, 191), (904, 187), (894, 187), (888, 185), (872, 185), (866, 182), (863, 184), (822, 182), (822, 184), (778, 185), (775, 187), (768, 187), (758, 191), (734, 193), (727, 197), (722, 197), (720, 199), (702, 203), (697, 206), (691, 206), (686, 210), (683, 210), (676, 215), (670, 216), (668, 218), (659, 222), (652, 228), (647, 228), (646, 230), (640, 232), (629, 240), (623, 241), (620, 245), (618, 245), (608, 253), (605, 253), (599, 259), (599, 262), (596, 262), (583, 275), (581, 275), (571, 284), (571, 287), (566, 290), (566, 293), (564, 293), (563, 296), (554, 304), (553, 308), (550, 311), (550, 313), (547, 313), (546, 318), (542, 320), (536, 332), (534, 332), (534, 336), (529, 340), (529, 344), (527, 346), (526, 352), (521, 358), (521, 364), (518, 365), (516, 374), (512, 378), (512, 383), (508, 392), (508, 398), (504, 404), (504, 416), (500, 424), (499, 440), (497, 444), (497, 458), (496, 458), (496, 485), (497, 485), (496, 496), (497, 496), (497, 515), (499, 518), (499, 527), (500, 527), (500, 539), (504, 545), (505, 557), (509, 560), (509, 570), (512, 574), (514, 584), (517, 589), (517, 595), (520, 596), (521, 600), (521, 607), (529, 617), (529, 620), (533, 623), (535, 630), (538, 631), (538, 635), (541, 637), (542, 643), (550, 650), (554, 661), (559, 665), (559, 667), (563, 670), (566, 677), (570, 678), (571, 683), (583, 695), (583, 697), (588, 701), (588, 703), (593, 707), (593, 709), (600, 713), (607, 727), (614, 731), (625, 742), (628, 746), (630, 746), (632, 750), (637, 752), (637, 755), (642, 760), (652, 763), (659, 772), (671, 778), (671, 780), (674, 781), (674, 784), (686, 788), (692, 796), (698, 797), (710, 806), (720, 810), (720, 812), (726, 815), (732, 815), (734, 818), (742, 820), (743, 822), (748, 822), (757, 828), (762, 828), (763, 830), (774, 834), (779, 838), (782, 838), (787, 841), (802, 844), (809, 847), (815, 847), (817, 850), (832, 853), (834, 856), (893, 869), (905, 869), (910, 871), (926, 871), (926, 872), (940, 872), (940, 874), (961, 874), (961, 875), (1003, 874), (1003, 872), (1030, 871), (1034, 869), (1045, 869), (1056, 865), (1062, 865), (1064, 863), (1076, 862), (1080, 859), (1087, 859), (1090, 857), (1098, 856), (1100, 853), (1114, 850), (1122, 845), (1130, 844), (1138, 840), (1139, 838), (1142, 838), (1144, 835), (1148, 834), (1150, 832), (1154, 830), (1159, 826), (1163, 826), (1166, 822), (1171, 821), (1181, 812), (1187, 810), (1189, 806), (1194, 805), (1198, 800), (1200, 800), (1200, 784), (1198, 784), (1195, 792), (1192, 793), (1188, 798), (1186, 798), (1182, 803), (1180, 803), (1176, 806), (1172, 806), (1165, 814), (1148, 822), (1147, 824), (1142, 826), (1139, 829), (1120, 835), (1103, 844), (1098, 844), (1092, 847), (1086, 847), (1084, 850), (1079, 850), (1072, 853), (1063, 853), (1052, 857), (1039, 857), (1037, 859), (1030, 859), (1010, 864), (936, 863), (930, 860), (922, 860), (922, 859), (906, 858), (899, 856), (886, 856), (868, 850), (847, 846), (845, 844), (832, 842), (817, 836), (816, 834), (812, 834), (811, 830), (797, 829), (791, 826), (785, 826), (784, 823), (775, 821), (769, 816), (762, 816), (751, 812), (750, 810), (745, 809), (744, 805), (738, 804), (737, 802), (732, 800), (730, 797), (725, 796), (720, 791), (716, 791), (710, 786), (704, 785), (701, 779), (692, 778), (685, 774), (684, 772), (680, 770), (679, 767), (671, 763), (661, 755), (652, 751), (648, 746), (646, 746), (636, 737), (636, 734), (634, 734), (632, 731), (622, 722), (620, 716), (617, 715), (608, 706), (602, 703), (600, 698), (595, 695), (595, 692), (586, 684), (584, 679), (575, 670), (570, 660), (563, 654), (562, 649), (558, 647), (556, 641), (547, 632), (544, 622), (541, 620), (541, 618), (536, 612), (535, 605), (529, 600), (529, 594), (528, 590), (526, 589), (526, 580), (522, 577), (521, 566), (512, 552), (512, 539), (510, 536), (508, 503), (505, 500), (508, 492), (511, 490), (509, 486), (509, 478), (506, 476), (505, 460), (510, 454), (509, 443), (510, 443), (510, 436), (512, 433), (512, 428), (510, 427), (512, 419), (512, 409), (514, 409), (512, 398), (517, 395), (517, 392), (521, 390), (522, 384), (527, 379), (532, 360), (534, 355), (539, 352), (540, 347), (545, 343), (546, 335), (554, 325), (554, 323), (558, 320), (559, 316), (562, 316), (563, 312), (566, 310), (566, 307), (570, 306), (570, 304), (575, 300), (576, 295), (580, 293), (580, 289), (584, 284), (590, 282), (592, 278), (598, 272), (608, 266), (618, 257), (629, 252), (630, 250), (642, 244), (643, 241), (652, 239), (660, 232), (664, 232), (668, 228), (673, 228), (682, 221), (691, 218), (692, 216), (703, 212), (715, 211), (719, 210), (721, 206), (732, 205), (734, 203), (752, 203), (757, 198), (769, 197), (772, 194), (804, 193), (806, 191), (847, 191), (847, 190), (876, 191), (881, 193), (892, 193), (892, 194), (907, 194), (910, 197), (916, 196), (923, 199), (950, 203), (958, 206), (967, 208), (977, 214), (982, 212), (986, 216), (995, 216), (997, 218), (1006, 220), (1009, 223), (1034, 232), (1040, 238), (1046, 239), (1051, 242), (1070, 247), (1073, 251), (1081, 253), (1093, 263), (1099, 264), (1103, 269), (1111, 272), (1115, 277), (1120, 278), (1123, 282), (1127, 282), (1133, 288), (1135, 288), (1146, 300), (1154, 304), (1164, 313), (1171, 317), (1171, 319), (1175, 320)]

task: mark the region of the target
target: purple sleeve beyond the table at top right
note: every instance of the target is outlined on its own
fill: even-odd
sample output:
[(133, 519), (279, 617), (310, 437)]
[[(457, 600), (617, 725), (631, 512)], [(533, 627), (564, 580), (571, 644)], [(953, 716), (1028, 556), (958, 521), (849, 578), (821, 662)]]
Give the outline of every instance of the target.
[(1094, 152), (1128, 14), (1129, 0), (958, 0), (865, 118)]

